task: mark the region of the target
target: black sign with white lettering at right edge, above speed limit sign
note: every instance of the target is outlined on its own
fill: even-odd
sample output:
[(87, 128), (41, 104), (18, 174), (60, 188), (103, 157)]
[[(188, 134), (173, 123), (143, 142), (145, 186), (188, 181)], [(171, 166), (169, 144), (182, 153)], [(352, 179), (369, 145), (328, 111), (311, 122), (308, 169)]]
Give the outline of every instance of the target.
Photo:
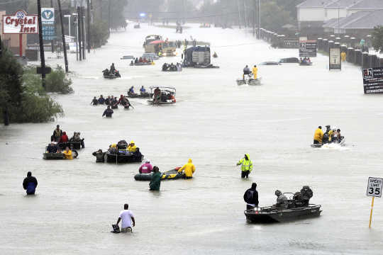
[(365, 94), (383, 93), (383, 67), (363, 68), (362, 75)]

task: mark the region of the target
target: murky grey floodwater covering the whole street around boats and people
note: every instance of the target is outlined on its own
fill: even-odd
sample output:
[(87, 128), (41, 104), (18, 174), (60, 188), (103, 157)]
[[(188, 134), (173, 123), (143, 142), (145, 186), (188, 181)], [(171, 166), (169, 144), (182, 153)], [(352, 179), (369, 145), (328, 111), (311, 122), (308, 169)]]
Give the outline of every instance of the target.
[[(56, 122), (0, 127), (1, 254), (380, 254), (383, 201), (371, 198), (369, 176), (382, 177), (383, 104), (365, 96), (360, 67), (345, 63), (328, 71), (328, 57), (312, 67), (260, 66), (262, 86), (240, 86), (245, 64), (295, 57), (297, 50), (272, 49), (243, 30), (191, 26), (183, 35), (144, 24), (111, 34), (109, 44), (76, 62), (70, 55), (74, 94), (54, 95), (65, 117)], [(220, 69), (160, 72), (164, 57), (150, 67), (129, 67), (123, 55), (140, 56), (145, 35), (211, 42)], [(48, 64), (62, 64), (48, 54)], [(122, 78), (104, 80), (111, 62)], [(128, 87), (174, 86), (177, 104), (118, 109), (101, 118), (93, 96), (126, 94)], [(79, 131), (86, 149), (72, 161), (45, 161), (45, 145), (56, 124)], [(313, 149), (318, 125), (342, 130), (345, 147)], [(134, 181), (139, 164), (96, 164), (91, 155), (118, 140), (134, 140), (161, 171), (191, 158), (195, 178), (163, 181), (148, 191)], [(235, 166), (249, 153), (254, 170), (240, 179)], [(38, 178), (36, 196), (25, 196), (27, 171)], [(257, 182), (260, 205), (274, 203), (275, 189), (313, 189), (321, 217), (274, 225), (251, 225), (243, 215), (244, 191)], [(135, 214), (133, 234), (112, 234), (123, 204)]]

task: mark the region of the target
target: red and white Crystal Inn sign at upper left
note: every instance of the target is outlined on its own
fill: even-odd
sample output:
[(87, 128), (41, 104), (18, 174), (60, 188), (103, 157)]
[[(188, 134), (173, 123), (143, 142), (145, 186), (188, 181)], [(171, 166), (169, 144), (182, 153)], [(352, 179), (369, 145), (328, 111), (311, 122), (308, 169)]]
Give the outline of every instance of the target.
[(38, 33), (38, 16), (28, 15), (19, 10), (12, 15), (3, 15), (4, 34), (33, 34)]

